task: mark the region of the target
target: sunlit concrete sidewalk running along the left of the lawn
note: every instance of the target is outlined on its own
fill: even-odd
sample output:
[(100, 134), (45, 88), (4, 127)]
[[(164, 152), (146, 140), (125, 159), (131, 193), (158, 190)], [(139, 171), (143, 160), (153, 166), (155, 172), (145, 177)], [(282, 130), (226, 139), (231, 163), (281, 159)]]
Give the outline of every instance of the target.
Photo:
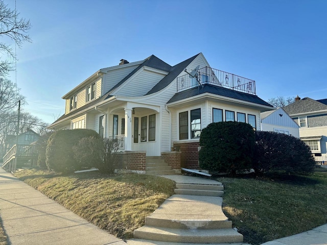
[(0, 217), (11, 245), (123, 245), (0, 167)]

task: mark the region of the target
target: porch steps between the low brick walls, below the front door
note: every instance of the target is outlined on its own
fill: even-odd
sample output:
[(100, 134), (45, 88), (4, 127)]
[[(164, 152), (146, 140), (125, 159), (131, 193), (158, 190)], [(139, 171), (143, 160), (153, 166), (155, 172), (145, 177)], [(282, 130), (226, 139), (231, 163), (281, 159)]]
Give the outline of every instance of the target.
[(147, 157), (146, 175), (175, 175), (176, 171), (161, 157)]

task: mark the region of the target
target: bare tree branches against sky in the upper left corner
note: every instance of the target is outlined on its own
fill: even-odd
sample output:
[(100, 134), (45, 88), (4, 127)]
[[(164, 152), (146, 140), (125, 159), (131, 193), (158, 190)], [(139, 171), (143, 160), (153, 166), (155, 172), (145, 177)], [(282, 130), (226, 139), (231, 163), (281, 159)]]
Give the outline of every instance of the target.
[[(20, 48), (22, 43), (31, 42), (31, 38), (27, 32), (31, 29), (30, 20), (19, 18), (19, 13), (16, 10), (11, 10), (8, 5), (5, 5), (3, 0), (0, 0), (0, 37), (7, 37), (14, 41)], [(0, 53), (6, 54), (11, 60), (0, 58), (0, 76), (7, 75), (9, 71), (14, 70), (14, 61), (16, 54), (10, 44), (0, 41)], [(14, 61), (12, 61), (14, 60)]]

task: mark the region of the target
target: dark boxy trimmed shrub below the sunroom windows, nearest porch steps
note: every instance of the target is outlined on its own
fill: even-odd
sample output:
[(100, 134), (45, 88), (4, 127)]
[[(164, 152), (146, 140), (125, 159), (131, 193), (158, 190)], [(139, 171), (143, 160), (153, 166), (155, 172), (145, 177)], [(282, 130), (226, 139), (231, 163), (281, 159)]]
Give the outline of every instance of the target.
[(228, 174), (251, 168), (254, 142), (254, 131), (245, 122), (213, 122), (201, 132), (199, 165)]

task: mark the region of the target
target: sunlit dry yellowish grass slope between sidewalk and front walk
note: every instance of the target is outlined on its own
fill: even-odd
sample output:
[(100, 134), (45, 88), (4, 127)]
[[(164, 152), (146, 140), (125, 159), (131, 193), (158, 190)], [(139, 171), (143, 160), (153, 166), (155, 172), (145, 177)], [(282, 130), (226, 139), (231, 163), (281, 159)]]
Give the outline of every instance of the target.
[(16, 176), (89, 222), (122, 239), (144, 225), (175, 188), (173, 181), (147, 175), (87, 173), (59, 176), (24, 170)]

